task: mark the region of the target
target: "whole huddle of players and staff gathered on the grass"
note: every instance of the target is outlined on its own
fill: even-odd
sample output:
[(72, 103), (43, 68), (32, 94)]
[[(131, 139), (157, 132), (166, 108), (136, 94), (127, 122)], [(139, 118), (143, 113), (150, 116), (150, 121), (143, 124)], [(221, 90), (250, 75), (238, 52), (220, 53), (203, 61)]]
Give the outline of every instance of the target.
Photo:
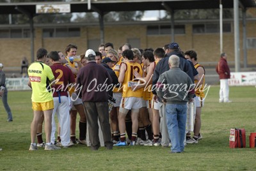
[(29, 151), (74, 144), (92, 150), (162, 145), (177, 153), (202, 139), (205, 70), (195, 51), (184, 53), (177, 43), (155, 50), (125, 43), (117, 51), (106, 43), (99, 52), (76, 52), (72, 44), (65, 48), (66, 57), (40, 48), (28, 68), (34, 111)]

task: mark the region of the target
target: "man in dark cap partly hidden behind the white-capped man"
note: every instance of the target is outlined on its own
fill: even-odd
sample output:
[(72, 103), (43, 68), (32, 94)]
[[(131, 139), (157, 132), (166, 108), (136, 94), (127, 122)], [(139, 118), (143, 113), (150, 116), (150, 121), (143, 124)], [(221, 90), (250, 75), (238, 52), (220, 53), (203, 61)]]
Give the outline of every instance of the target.
[[(116, 73), (115, 71), (112, 70), (113, 65), (115, 64), (115, 61), (112, 61), (109, 57), (105, 57), (102, 61), (101, 64), (102, 66), (104, 66), (106, 68), (106, 70), (108, 71), (110, 77), (112, 78), (113, 85), (117, 85), (119, 84), (118, 82), (118, 78), (116, 77)], [(113, 91), (109, 91), (109, 96), (113, 97)]]

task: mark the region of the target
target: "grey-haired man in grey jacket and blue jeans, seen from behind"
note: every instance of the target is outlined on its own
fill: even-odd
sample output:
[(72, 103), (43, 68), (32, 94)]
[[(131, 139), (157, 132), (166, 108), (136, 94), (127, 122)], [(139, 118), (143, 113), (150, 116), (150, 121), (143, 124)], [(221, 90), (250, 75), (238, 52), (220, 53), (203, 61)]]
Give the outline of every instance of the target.
[(157, 96), (166, 103), (166, 124), (172, 142), (171, 152), (184, 151), (186, 132), (186, 103), (193, 102), (195, 91), (191, 78), (179, 68), (180, 58), (172, 55), (169, 58), (170, 70), (165, 71), (157, 80)]

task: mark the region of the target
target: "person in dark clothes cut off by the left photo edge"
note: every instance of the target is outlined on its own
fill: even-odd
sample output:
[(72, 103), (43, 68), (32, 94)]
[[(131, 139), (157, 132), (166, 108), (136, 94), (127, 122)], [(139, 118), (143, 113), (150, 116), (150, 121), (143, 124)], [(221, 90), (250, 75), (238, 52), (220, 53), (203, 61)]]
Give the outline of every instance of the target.
[(0, 97), (2, 98), (2, 101), (3, 101), (3, 105), (4, 105), (4, 108), (7, 112), (7, 121), (8, 122), (12, 122), (13, 121), (13, 118), (12, 118), (12, 111), (8, 105), (8, 102), (7, 102), (7, 94), (8, 94), (8, 91), (7, 91), (7, 88), (6, 88), (6, 85), (5, 85), (5, 73), (3, 71), (3, 64), (0, 63)]

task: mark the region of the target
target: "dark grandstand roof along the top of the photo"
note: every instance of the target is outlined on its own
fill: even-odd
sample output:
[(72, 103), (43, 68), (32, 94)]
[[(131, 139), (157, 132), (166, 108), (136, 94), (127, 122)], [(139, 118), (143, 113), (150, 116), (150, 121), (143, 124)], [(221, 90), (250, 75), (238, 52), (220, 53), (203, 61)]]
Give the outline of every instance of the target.
[[(219, 8), (221, 0), (91, 0), (92, 9), (88, 10), (87, 0), (81, 2), (31, 2), (31, 3), (0, 3), (0, 14), (17, 14), (17, 6), (30, 15), (36, 14), (36, 4), (70, 4), (70, 12), (97, 11), (145, 11), (145, 10), (190, 10)], [(164, 3), (163, 3), (164, 2)], [(222, 0), (223, 8), (233, 8), (234, 0)], [(256, 7), (255, 0), (239, 0), (239, 7)]]

